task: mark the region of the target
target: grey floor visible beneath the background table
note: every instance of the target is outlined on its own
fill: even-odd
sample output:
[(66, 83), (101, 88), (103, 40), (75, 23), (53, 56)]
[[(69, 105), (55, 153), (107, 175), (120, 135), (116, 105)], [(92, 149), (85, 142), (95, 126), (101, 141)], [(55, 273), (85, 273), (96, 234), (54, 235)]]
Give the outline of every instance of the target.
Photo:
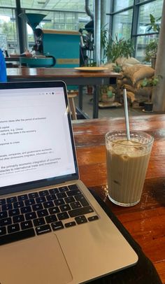
[[(92, 118), (93, 104), (92, 104), (92, 94), (83, 94), (83, 111), (85, 114)], [(75, 98), (75, 104), (78, 106), (78, 97)], [(153, 113), (144, 113), (142, 108), (128, 108), (129, 116), (133, 115), (148, 115)], [(99, 118), (119, 118), (124, 117), (124, 107), (113, 107), (113, 108), (99, 108)]]

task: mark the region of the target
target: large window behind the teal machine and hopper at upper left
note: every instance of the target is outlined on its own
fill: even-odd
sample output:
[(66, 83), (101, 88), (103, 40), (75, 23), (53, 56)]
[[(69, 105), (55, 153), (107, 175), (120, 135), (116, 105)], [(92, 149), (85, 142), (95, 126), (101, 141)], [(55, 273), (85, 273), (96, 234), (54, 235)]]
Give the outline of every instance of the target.
[[(20, 6), (24, 9), (24, 13), (43, 13), (46, 15), (40, 24), (42, 29), (67, 29), (78, 31), (80, 28), (84, 28), (85, 24), (90, 20), (90, 17), (85, 12), (85, 1), (20, 0)], [(15, 0), (7, 2), (0, 0), (0, 47), (3, 49), (7, 48), (9, 54), (11, 52), (20, 53), (15, 9)], [(89, 0), (89, 9), (93, 11), (93, 0)], [(24, 35), (22, 35), (20, 31), (18, 31), (18, 33), (20, 35), (20, 41), (24, 43), (26, 38), (23, 40), (22, 36)], [(34, 32), (29, 24), (27, 24), (27, 33), (25, 31), (24, 34), (27, 34), (27, 46), (26, 43), (24, 43), (24, 48), (31, 48), (31, 45), (34, 45)]]

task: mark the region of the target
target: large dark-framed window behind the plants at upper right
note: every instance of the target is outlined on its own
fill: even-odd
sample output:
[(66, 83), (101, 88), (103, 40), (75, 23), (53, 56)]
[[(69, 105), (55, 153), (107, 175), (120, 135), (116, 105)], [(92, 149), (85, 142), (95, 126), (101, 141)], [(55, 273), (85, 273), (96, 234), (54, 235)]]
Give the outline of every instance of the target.
[(134, 39), (134, 56), (143, 62), (146, 45), (159, 36), (157, 31), (150, 29), (150, 14), (160, 25), (163, 0), (111, 0), (110, 3), (110, 32), (113, 38), (117, 34), (119, 38)]

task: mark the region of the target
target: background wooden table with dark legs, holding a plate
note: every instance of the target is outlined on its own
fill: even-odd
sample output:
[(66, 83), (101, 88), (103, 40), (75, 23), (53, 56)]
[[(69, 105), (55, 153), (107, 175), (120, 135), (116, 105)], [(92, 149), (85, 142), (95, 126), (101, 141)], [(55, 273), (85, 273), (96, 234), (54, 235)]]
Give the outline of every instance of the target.
[(98, 118), (99, 113), (99, 86), (116, 83), (119, 73), (108, 70), (99, 72), (82, 72), (73, 68), (7, 68), (9, 82), (34, 81), (34, 80), (63, 80), (66, 85), (78, 85), (79, 108), (82, 110), (82, 86), (94, 86), (93, 118)]

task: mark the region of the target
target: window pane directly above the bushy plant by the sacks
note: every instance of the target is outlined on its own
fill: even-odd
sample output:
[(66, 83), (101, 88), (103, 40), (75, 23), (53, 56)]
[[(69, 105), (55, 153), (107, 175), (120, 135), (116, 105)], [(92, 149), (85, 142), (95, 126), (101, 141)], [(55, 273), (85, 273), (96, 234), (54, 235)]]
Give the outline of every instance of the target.
[(133, 10), (127, 10), (113, 16), (113, 38), (129, 39), (131, 37), (131, 22)]

